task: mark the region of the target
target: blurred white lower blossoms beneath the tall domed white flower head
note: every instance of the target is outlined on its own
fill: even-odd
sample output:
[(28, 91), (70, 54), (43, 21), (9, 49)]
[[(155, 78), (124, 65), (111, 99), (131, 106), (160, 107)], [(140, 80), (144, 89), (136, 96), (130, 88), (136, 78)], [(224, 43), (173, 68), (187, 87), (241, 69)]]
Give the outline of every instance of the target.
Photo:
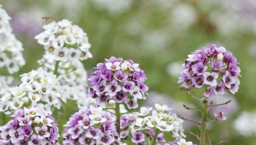
[[(53, 54), (44, 54), (43, 58), (38, 61), (41, 67), (46, 71), (54, 71), (55, 56)], [(77, 101), (79, 108), (87, 107), (85, 99), (87, 84), (87, 71), (84, 69), (82, 62), (76, 61), (59, 62), (57, 69), (57, 79), (61, 85), (62, 97)], [(90, 98), (90, 97), (89, 97)]]

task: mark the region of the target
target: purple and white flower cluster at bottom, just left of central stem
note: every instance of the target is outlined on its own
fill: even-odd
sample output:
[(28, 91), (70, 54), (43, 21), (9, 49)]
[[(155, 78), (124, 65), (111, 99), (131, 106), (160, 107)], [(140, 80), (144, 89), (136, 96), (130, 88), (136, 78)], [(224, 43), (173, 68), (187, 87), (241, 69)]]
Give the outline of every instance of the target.
[(80, 109), (70, 118), (63, 133), (63, 144), (115, 144), (120, 138), (115, 129), (116, 116), (101, 107)]

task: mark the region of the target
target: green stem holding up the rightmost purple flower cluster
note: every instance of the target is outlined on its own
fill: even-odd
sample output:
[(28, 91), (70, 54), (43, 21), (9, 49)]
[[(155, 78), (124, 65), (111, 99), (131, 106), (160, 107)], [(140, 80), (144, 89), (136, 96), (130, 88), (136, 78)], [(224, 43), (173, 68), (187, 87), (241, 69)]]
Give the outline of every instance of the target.
[(208, 103), (207, 101), (202, 101), (202, 120), (201, 120), (201, 130), (200, 130), (200, 145), (205, 144), (205, 134), (206, 134), (206, 123), (207, 123), (207, 112), (208, 112)]

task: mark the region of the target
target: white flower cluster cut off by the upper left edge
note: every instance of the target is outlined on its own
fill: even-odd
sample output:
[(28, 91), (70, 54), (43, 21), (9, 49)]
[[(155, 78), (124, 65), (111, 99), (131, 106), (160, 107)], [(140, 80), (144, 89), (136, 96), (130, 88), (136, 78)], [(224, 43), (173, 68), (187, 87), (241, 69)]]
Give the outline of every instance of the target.
[(25, 64), (18, 41), (9, 24), (10, 17), (0, 5), (0, 67), (6, 66), (9, 73), (14, 73)]

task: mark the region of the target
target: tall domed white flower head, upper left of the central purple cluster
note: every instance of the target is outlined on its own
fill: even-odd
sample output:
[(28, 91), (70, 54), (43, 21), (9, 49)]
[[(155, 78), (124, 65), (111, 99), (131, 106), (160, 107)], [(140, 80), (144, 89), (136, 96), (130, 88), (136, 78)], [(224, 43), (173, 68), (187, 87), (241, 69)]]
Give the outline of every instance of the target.
[(35, 39), (47, 52), (54, 54), (56, 60), (73, 62), (92, 57), (87, 34), (71, 21), (52, 21), (43, 25), (43, 29)]

